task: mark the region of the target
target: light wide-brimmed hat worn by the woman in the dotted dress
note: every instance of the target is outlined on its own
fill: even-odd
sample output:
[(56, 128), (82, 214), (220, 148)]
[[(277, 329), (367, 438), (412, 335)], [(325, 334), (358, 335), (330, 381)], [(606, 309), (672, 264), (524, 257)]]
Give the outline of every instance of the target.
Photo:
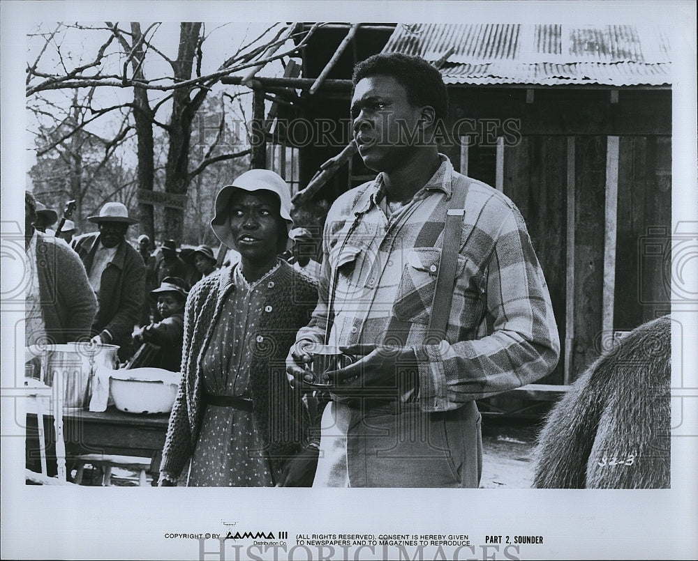
[[(230, 185), (225, 185), (218, 194), (216, 194), (215, 215), (211, 220), (211, 229), (213, 229), (216, 238), (221, 240), (221, 243), (230, 249), (236, 249), (235, 240), (232, 238), (230, 227), (228, 226), (228, 210), (230, 209), (230, 199), (236, 189), (243, 191), (271, 191), (279, 197), (279, 214), (286, 221), (286, 234), (293, 228), (293, 220), (291, 218), (291, 192), (286, 183), (279, 174), (274, 173), (269, 169), (251, 169), (239, 176)], [(285, 248), (290, 249), (293, 246), (293, 240), (288, 238)]]

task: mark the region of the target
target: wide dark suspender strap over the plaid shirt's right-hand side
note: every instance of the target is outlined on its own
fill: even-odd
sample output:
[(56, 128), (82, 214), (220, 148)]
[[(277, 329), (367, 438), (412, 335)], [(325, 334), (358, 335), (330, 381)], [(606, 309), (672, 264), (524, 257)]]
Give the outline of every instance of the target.
[(427, 335), (426, 344), (436, 344), (446, 338), (446, 325), (451, 311), (453, 284), (458, 264), (458, 250), (461, 245), (464, 207), (466, 194), (468, 194), (468, 184), (461, 187), (458, 183), (455, 181), (453, 183), (451, 201), (446, 211), (443, 245), (436, 275), (436, 289), (431, 301), (431, 318), (429, 318), (429, 335)]

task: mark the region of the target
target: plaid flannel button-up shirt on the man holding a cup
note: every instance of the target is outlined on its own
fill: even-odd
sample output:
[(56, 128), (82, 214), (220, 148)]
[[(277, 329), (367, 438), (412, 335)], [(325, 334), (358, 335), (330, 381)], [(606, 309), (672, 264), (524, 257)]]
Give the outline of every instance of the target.
[(447, 204), (460, 176), (440, 158), (436, 174), (395, 213), (382, 174), (335, 201), (325, 224), (320, 300), (297, 335), (324, 341), (337, 272), (327, 342), (413, 348), (419, 387), (403, 399), (416, 398), (427, 412), (531, 383), (554, 369), (560, 353), (523, 217), (502, 193), (470, 178), (446, 338), (426, 341)]

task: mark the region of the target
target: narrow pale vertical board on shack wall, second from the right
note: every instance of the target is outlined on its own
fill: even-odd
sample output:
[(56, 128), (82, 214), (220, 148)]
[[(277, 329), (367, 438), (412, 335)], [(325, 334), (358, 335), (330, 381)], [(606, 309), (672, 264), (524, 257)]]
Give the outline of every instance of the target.
[(574, 367), (574, 226), (576, 222), (574, 137), (567, 137), (567, 279), (565, 282), (565, 372), (563, 383), (572, 383)]

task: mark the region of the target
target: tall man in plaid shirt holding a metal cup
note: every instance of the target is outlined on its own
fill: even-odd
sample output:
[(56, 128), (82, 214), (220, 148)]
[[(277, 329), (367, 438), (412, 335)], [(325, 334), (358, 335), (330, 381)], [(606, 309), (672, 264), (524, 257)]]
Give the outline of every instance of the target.
[[(357, 65), (353, 84), (354, 139), (380, 173), (329, 210), (320, 301), (287, 362), (309, 391), (313, 344), (358, 359), (327, 376), (314, 485), (477, 487), (475, 399), (542, 378), (558, 360), (545, 279), (512, 201), (456, 173), (430, 138), (447, 116), (438, 70), (378, 54)], [(452, 294), (436, 295), (452, 298), (445, 339), (428, 340), (447, 206), (463, 189)]]

